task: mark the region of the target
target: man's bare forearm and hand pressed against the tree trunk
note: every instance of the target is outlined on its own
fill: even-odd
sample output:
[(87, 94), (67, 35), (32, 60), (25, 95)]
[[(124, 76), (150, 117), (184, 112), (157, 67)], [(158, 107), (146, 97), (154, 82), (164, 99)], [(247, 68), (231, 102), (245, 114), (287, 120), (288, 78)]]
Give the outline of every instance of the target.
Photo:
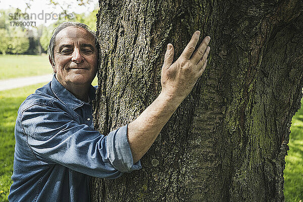
[(205, 37), (193, 52), (199, 35), (199, 31), (192, 35), (183, 53), (174, 63), (174, 47), (170, 43), (167, 45), (161, 74), (161, 93), (138, 118), (128, 124), (127, 138), (134, 163), (139, 161), (154, 143), (163, 126), (203, 74), (211, 38)]

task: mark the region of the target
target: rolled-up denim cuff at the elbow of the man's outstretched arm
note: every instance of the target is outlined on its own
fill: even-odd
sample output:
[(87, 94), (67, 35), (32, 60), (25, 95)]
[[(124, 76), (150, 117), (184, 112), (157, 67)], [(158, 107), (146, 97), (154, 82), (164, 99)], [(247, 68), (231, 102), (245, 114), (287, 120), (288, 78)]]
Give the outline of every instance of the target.
[(130, 173), (141, 168), (140, 160), (133, 164), (127, 140), (127, 125), (110, 132), (107, 136), (106, 145), (108, 158), (117, 170)]

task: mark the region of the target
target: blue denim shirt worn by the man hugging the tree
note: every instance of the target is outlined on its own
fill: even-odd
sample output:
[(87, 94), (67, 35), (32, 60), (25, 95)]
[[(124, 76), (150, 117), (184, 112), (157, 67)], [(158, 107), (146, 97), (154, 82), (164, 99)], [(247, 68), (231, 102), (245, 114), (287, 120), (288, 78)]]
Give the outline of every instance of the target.
[(89, 201), (90, 176), (113, 179), (141, 168), (133, 164), (127, 125), (107, 136), (94, 130), (91, 102), (55, 76), (21, 104), (15, 138), (10, 201)]

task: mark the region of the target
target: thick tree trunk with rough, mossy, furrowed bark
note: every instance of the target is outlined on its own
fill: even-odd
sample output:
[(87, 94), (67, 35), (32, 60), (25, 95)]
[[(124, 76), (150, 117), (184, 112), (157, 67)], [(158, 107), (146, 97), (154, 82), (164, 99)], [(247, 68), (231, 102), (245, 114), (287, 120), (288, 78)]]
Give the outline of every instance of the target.
[(134, 120), (161, 90), (167, 43), (211, 36), (208, 66), (141, 159), (92, 201), (284, 201), (303, 87), (303, 2), (100, 0), (95, 128)]

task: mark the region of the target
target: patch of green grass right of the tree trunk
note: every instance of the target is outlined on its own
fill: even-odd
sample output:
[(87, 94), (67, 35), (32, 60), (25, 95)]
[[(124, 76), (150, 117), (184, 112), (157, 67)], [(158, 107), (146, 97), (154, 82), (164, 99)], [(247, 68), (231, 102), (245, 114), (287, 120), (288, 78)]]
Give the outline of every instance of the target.
[(288, 156), (285, 157), (284, 195), (286, 202), (303, 201), (303, 98), (292, 118)]

